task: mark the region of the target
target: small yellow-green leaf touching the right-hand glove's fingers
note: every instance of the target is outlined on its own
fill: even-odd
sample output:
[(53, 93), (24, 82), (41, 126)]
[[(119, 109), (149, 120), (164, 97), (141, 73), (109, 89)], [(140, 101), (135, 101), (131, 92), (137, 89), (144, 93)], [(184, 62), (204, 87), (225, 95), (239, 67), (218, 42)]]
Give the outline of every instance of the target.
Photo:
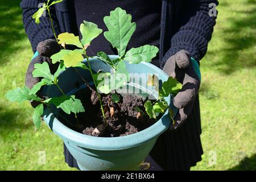
[(159, 91), (160, 97), (167, 97), (169, 94), (177, 94), (182, 88), (182, 84), (175, 78), (169, 77), (163, 82), (162, 89)]

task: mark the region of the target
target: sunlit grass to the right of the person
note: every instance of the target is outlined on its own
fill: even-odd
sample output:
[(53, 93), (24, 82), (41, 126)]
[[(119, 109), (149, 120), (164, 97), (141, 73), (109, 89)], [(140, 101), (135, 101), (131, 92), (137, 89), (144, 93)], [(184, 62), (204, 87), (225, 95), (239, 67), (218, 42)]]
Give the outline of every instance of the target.
[[(255, 5), (221, 1), (217, 8), (213, 38), (201, 60), (204, 155), (193, 170), (256, 169)], [(212, 151), (217, 160), (210, 166)]]

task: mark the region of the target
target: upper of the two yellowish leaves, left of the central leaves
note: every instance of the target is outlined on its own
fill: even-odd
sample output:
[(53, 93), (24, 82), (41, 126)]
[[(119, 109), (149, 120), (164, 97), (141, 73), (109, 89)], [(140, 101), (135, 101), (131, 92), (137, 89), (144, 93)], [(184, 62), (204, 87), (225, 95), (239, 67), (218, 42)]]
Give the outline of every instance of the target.
[(79, 36), (75, 36), (74, 34), (70, 34), (68, 32), (62, 33), (58, 36), (59, 44), (72, 44), (74, 46), (82, 48), (82, 43), (79, 40)]

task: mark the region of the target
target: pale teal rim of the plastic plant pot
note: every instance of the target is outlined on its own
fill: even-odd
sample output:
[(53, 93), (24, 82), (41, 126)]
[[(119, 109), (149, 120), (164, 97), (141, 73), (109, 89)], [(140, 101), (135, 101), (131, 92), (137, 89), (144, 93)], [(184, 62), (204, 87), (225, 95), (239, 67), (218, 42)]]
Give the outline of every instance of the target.
[[(94, 59), (97, 58), (90, 58), (90, 60)], [(159, 74), (164, 74), (164, 76), (168, 78), (167, 74), (155, 65), (144, 62), (141, 64), (144, 64), (146, 67), (153, 67), (154, 69), (156, 69), (157, 72), (159, 72)], [(170, 101), (170, 96), (168, 96), (168, 100)], [(50, 129), (54, 133), (59, 135), (59, 137), (61, 137), (63, 140), (76, 144), (79, 147), (105, 151), (124, 150), (127, 148), (139, 146), (147, 142), (148, 140), (158, 137), (160, 134), (168, 129), (171, 123), (171, 119), (168, 115), (167, 109), (163, 116), (158, 121), (156, 121), (154, 125), (142, 131), (139, 131), (138, 133), (122, 137), (93, 137), (69, 129), (69, 127), (65, 126), (59, 121), (59, 119), (55, 117), (49, 107), (46, 107), (46, 109), (44, 109), (43, 119), (47, 123), (48, 127), (50, 127)]]

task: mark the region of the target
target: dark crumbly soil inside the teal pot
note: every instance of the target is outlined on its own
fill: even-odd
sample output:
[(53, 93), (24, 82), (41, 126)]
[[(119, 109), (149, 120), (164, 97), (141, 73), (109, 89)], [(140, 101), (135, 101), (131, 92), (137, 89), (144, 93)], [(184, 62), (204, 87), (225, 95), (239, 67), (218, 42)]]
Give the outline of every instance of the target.
[[(89, 89), (88, 89), (89, 90)], [(101, 100), (104, 105), (105, 118), (108, 126), (104, 127), (104, 119), (101, 113), (100, 101), (94, 90), (88, 92), (90, 98), (84, 101), (85, 112), (79, 115), (80, 132), (94, 137), (119, 137), (130, 135), (146, 129), (155, 123), (155, 119), (134, 109), (138, 106), (144, 113), (144, 102), (141, 96), (118, 94), (118, 103), (112, 101), (111, 94), (102, 94)], [(96, 129), (97, 128), (97, 129)]]

